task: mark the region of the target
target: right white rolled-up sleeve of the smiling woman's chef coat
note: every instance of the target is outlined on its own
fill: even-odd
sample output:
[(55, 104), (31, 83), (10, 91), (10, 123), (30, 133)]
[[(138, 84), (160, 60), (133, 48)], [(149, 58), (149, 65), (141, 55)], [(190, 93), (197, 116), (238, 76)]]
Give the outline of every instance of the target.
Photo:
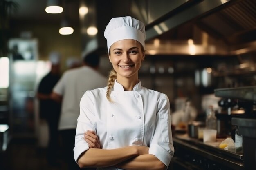
[(155, 155), (166, 167), (169, 166), (174, 154), (170, 103), (168, 97), (164, 94), (157, 101), (155, 132), (150, 143), (149, 154)]

